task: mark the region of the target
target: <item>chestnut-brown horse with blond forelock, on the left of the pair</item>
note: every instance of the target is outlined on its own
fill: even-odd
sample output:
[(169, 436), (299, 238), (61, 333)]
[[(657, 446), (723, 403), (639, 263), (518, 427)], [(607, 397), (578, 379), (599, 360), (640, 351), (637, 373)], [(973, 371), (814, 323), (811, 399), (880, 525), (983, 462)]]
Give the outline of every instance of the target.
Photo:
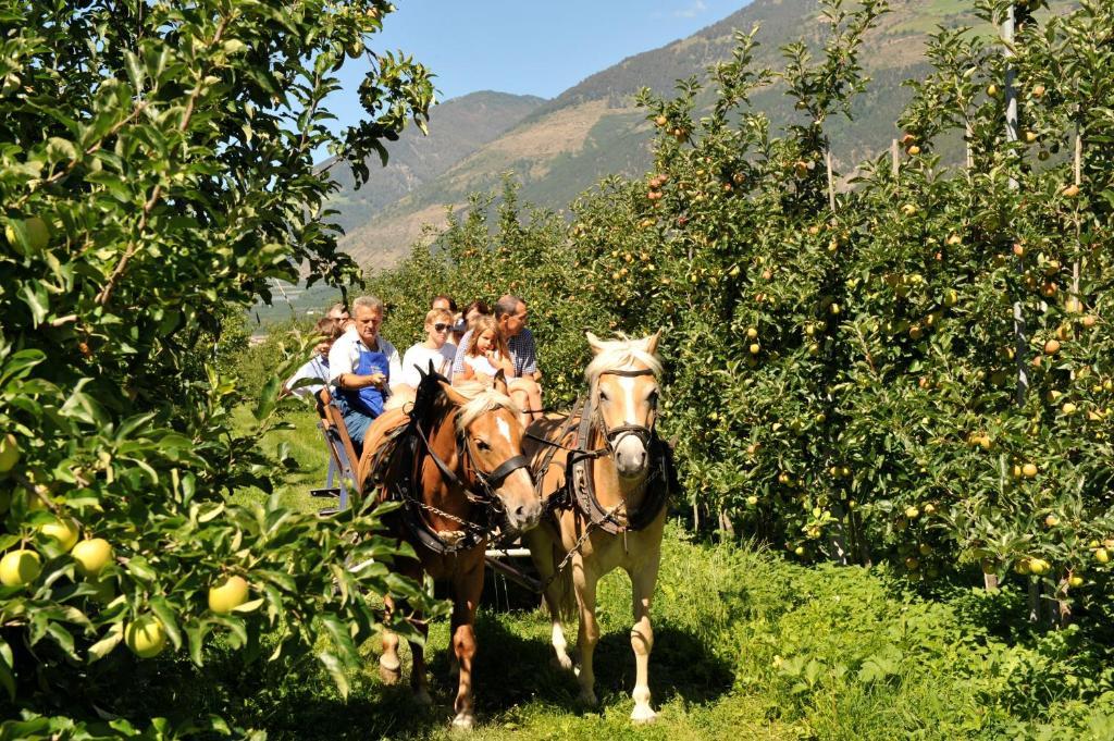
[[(476, 607), (483, 589), (483, 555), (496, 527), (505, 535), (532, 528), (541, 516), (527, 459), (522, 455), (519, 410), (505, 380), (490, 387), (453, 388), (432, 368), (423, 373), (412, 409), (388, 409), (368, 431), (359, 478), (364, 491), (379, 488), (380, 501), (402, 507), (387, 516), (392, 533), (418, 560), (394, 568), (417, 581), (422, 574), (448, 579), (452, 592), (451, 641), (459, 666), (453, 727), (475, 723), (472, 660)], [(388, 596), (387, 610), (395, 608)], [(427, 633), (417, 621), (422, 634)], [(383, 634), (380, 670), (384, 680), (401, 676), (399, 638)], [(422, 645), (410, 642), (410, 684), (420, 704), (430, 704)]]

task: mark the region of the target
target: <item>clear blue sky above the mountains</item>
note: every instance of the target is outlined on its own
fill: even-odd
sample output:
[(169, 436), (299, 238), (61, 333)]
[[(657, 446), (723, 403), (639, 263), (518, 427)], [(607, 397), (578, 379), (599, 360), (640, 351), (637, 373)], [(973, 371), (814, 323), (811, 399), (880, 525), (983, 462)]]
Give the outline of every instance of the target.
[[(476, 90), (551, 98), (625, 57), (714, 23), (750, 0), (395, 0), (373, 37), (375, 50), (401, 49), (436, 75), (438, 99)], [(330, 98), (340, 125), (362, 114), (355, 89), (365, 66), (341, 70)]]

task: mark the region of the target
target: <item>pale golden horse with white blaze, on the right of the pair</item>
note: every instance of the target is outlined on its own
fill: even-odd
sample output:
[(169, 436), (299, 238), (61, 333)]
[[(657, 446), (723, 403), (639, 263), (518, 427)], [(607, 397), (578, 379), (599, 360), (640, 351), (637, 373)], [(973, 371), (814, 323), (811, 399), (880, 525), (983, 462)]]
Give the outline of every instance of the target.
[[(654, 432), (657, 417), (661, 332), (602, 341), (590, 332), (595, 358), (585, 371), (588, 394), (569, 415), (547, 415), (527, 428), (526, 452), (554, 519), (524, 535), (543, 579), (556, 659), (573, 669), (563, 618), (579, 613), (579, 700), (597, 704), (593, 652), (599, 641), (596, 583), (622, 567), (634, 589), (635, 706), (651, 722), (649, 608), (657, 582), (672, 455)], [(575, 428), (575, 429), (574, 429)], [(575, 595), (575, 603), (574, 597)]]

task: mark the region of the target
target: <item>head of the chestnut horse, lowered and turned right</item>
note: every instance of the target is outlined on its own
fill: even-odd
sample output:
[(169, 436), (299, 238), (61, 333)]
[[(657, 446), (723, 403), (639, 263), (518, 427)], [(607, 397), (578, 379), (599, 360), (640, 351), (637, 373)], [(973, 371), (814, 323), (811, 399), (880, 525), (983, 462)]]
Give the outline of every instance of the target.
[(497, 383), (441, 382), (446, 398), (457, 409), (456, 426), (473, 475), (504, 515), (508, 534), (529, 530), (541, 519), (541, 503), (534, 491), (529, 461), (522, 455), (519, 411)]

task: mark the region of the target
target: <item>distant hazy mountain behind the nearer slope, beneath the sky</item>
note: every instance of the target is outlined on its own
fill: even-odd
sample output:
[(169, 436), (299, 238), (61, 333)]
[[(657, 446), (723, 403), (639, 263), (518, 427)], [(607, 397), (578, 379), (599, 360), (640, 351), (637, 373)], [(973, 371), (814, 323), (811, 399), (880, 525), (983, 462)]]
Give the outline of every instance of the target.
[[(432, 182), (467, 155), (476, 152), (544, 104), (531, 95), (510, 95), (482, 90), (434, 106), (430, 111), (429, 136), (418, 127), (408, 127), (398, 142), (387, 144), (390, 159), (381, 167), (370, 163), (371, 178), (355, 188), (352, 173), (343, 165), (333, 177), (341, 189), (330, 206), (340, 211), (334, 217), (344, 231), (367, 224), (385, 206)], [(335, 165), (330, 158), (322, 168)]]

